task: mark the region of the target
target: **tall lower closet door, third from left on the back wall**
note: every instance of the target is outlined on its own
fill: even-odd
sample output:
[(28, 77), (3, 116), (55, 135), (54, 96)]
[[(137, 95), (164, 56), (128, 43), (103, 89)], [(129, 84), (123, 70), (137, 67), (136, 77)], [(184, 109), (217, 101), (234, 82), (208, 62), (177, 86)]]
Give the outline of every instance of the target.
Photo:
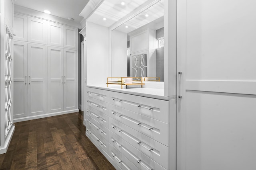
[(48, 47), (48, 112), (63, 110), (63, 49)]

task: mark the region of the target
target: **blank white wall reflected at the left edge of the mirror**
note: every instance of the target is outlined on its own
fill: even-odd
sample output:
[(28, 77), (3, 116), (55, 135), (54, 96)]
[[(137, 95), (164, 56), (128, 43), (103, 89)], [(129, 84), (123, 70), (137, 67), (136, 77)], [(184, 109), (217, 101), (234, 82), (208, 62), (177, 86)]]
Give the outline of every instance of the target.
[(127, 33), (112, 31), (112, 51), (111, 51), (111, 76), (127, 76)]

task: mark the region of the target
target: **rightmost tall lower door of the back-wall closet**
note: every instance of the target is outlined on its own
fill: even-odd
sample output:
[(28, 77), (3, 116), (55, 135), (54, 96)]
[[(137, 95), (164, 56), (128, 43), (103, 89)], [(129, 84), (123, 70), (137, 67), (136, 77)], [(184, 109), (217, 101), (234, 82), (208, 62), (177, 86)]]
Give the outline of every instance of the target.
[(64, 110), (77, 107), (76, 51), (64, 49)]

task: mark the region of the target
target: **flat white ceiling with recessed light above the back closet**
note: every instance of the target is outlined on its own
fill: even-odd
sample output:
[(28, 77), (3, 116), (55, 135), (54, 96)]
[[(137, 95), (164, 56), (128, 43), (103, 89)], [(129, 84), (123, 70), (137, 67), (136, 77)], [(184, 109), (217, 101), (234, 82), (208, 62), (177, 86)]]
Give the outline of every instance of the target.
[(43, 12), (49, 10), (51, 15), (60, 18), (74, 18), (80, 23), (83, 17), (79, 16), (89, 0), (14, 0), (14, 4)]

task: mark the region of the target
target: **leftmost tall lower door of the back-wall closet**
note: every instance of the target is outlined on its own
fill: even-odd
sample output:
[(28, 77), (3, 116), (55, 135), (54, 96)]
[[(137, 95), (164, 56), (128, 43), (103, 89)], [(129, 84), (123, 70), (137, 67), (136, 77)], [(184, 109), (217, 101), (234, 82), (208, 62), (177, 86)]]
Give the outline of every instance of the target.
[(13, 118), (28, 115), (28, 44), (14, 41)]

